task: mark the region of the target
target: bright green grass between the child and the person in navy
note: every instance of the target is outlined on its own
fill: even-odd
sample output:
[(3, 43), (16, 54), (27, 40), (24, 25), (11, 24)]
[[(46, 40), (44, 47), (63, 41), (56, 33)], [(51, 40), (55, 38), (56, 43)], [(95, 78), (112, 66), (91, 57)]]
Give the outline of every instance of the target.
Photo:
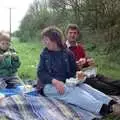
[(42, 45), (40, 45), (39, 42), (21, 43), (18, 40), (13, 40), (12, 44), (21, 61), (18, 75), (22, 79), (36, 79), (36, 68), (39, 62)]

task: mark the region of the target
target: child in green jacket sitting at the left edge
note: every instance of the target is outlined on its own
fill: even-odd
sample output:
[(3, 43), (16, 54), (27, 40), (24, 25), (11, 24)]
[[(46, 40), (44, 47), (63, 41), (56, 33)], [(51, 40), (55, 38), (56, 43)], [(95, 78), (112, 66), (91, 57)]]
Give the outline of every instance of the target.
[(0, 88), (13, 88), (19, 84), (16, 75), (20, 67), (19, 57), (10, 48), (10, 37), (6, 32), (0, 32)]

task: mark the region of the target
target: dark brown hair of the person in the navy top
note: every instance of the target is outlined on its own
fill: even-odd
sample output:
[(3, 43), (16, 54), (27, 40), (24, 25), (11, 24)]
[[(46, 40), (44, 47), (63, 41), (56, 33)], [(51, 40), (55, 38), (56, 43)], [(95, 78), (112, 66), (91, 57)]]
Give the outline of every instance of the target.
[(63, 32), (56, 26), (49, 26), (41, 32), (41, 37), (44, 36), (50, 38), (51, 41), (54, 41), (57, 43), (58, 47), (64, 48), (64, 35)]

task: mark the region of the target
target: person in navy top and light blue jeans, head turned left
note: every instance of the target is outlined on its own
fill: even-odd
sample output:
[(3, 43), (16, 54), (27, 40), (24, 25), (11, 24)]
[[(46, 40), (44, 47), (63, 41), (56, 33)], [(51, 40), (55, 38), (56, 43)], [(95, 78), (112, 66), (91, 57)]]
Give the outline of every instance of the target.
[[(76, 75), (73, 54), (64, 48), (62, 32), (56, 27), (48, 27), (42, 32), (45, 48), (38, 65), (38, 86), (47, 97), (62, 100), (94, 114), (110, 113), (112, 99), (91, 86), (66, 86), (65, 80)], [(39, 87), (40, 88), (40, 87)]]

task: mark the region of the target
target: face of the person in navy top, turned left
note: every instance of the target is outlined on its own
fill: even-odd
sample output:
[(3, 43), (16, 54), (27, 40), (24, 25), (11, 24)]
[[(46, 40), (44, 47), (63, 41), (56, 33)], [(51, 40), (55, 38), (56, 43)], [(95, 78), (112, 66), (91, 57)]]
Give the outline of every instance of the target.
[(57, 47), (56, 42), (51, 41), (48, 37), (43, 37), (43, 44), (49, 49), (54, 50)]

